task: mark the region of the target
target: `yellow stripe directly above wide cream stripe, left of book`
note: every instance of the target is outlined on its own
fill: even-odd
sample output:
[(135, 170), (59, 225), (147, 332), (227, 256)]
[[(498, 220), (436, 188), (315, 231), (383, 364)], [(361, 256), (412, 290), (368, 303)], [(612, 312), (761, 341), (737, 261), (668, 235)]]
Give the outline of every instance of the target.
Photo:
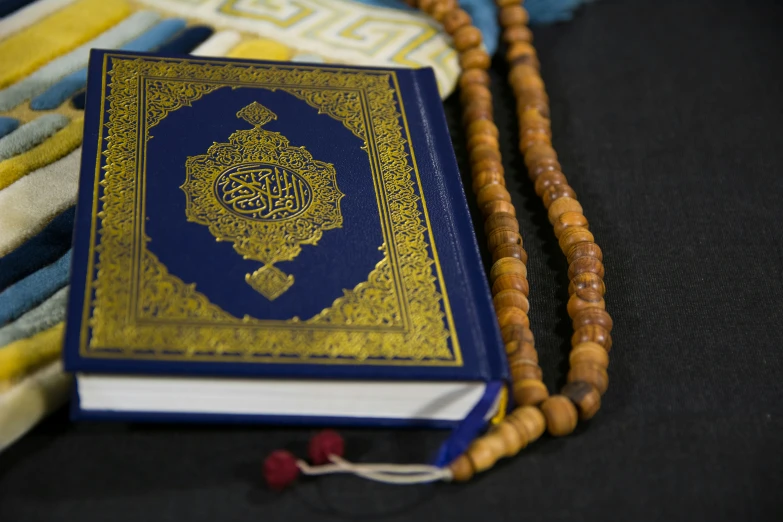
[(82, 142), (84, 118), (74, 118), (64, 129), (27, 152), (0, 161), (0, 190), (35, 169), (45, 167), (76, 149)]

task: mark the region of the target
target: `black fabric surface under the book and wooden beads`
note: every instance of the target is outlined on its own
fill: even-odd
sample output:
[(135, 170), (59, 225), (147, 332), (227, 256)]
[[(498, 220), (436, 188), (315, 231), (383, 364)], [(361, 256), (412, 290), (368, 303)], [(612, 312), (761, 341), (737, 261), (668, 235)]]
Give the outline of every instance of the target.
[[(464, 485), (335, 477), (274, 494), (262, 459), (304, 454), (309, 430), (71, 425), (60, 412), (0, 455), (0, 520), (782, 520), (781, 15), (775, 1), (602, 0), (536, 31), (555, 146), (604, 249), (616, 325), (604, 406), (574, 435)], [(566, 266), (515, 154), (504, 70), (496, 113), (531, 321), (559, 387)], [(457, 109), (450, 99), (464, 158)], [(343, 433), (364, 462), (421, 462), (444, 437)]]

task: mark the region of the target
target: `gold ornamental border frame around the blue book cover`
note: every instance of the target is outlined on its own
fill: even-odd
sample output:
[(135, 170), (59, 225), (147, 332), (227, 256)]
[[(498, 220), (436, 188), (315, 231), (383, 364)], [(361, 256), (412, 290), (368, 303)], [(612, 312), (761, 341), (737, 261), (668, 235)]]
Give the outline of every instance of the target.
[[(410, 138), (393, 71), (107, 54), (104, 78), (110, 83), (103, 89), (98, 151), (106, 160), (95, 173), (82, 356), (462, 365), (415, 161), (406, 149)], [(364, 142), (384, 230), (381, 260), (367, 280), (312, 318), (273, 321), (234, 317), (169, 273), (146, 247), (139, 214), (146, 160), (138, 142), (150, 121), (159, 122), (208, 89), (150, 92), (152, 82), (282, 90), (342, 121)], [(161, 99), (165, 93), (187, 96)]]

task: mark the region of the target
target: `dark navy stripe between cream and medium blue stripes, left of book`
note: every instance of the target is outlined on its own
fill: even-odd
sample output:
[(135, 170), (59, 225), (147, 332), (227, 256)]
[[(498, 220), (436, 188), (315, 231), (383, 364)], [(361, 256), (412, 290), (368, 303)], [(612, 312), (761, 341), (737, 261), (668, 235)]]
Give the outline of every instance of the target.
[(69, 208), (16, 250), (0, 257), (0, 292), (54, 263), (71, 248), (75, 213), (76, 207)]

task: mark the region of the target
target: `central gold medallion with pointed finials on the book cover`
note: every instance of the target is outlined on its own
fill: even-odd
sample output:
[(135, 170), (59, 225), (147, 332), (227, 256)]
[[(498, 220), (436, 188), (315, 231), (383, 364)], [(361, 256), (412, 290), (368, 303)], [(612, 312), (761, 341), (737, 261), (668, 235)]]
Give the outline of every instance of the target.
[(315, 245), (324, 231), (340, 228), (344, 194), (334, 165), (262, 128), (277, 119), (274, 112), (253, 102), (237, 117), (253, 128), (185, 162), (187, 178), (180, 187), (187, 197), (185, 214), (209, 227), (218, 241), (233, 242), (245, 259), (264, 263), (245, 281), (274, 300), (291, 288), (294, 276), (273, 265), (291, 261), (301, 245)]

